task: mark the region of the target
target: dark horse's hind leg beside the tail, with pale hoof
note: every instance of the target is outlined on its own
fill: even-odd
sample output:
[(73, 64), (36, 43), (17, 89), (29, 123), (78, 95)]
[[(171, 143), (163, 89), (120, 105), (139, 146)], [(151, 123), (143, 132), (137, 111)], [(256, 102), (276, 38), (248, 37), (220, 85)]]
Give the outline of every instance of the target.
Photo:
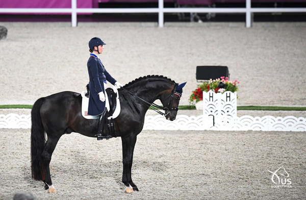
[(54, 152), (54, 149), (59, 141), (61, 136), (59, 137), (49, 137), (45, 144), (43, 153), (42, 153), (42, 160), (43, 165), (45, 169), (45, 189), (48, 190), (48, 193), (56, 193), (54, 186), (52, 185), (51, 177), (50, 177), (50, 168), (49, 164), (51, 161), (52, 154)]

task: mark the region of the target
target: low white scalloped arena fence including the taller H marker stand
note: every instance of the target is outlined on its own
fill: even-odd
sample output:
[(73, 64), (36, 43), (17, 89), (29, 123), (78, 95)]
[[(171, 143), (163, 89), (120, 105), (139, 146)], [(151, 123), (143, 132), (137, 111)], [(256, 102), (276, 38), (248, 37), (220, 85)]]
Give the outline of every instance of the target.
[[(177, 115), (174, 121), (162, 115), (145, 116), (143, 130), (186, 131), (306, 131), (304, 117), (237, 117), (237, 93), (203, 92), (203, 115)], [(88, 119), (91, 120), (91, 119)], [(31, 115), (0, 115), (0, 129), (30, 129)]]

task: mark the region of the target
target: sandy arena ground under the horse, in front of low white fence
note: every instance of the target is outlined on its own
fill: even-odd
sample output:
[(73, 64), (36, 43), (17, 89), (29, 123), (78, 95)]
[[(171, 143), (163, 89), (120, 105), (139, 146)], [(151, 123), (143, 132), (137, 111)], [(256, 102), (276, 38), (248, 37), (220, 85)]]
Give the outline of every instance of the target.
[[(143, 131), (124, 193), (120, 138), (77, 133), (60, 139), (51, 162), (57, 194), (31, 180), (30, 130), (0, 130), (0, 199), (17, 191), (37, 199), (303, 199), (306, 136), (296, 132)], [(268, 171), (284, 166), (292, 188), (273, 187)], [(288, 179), (289, 179), (288, 178)]]

